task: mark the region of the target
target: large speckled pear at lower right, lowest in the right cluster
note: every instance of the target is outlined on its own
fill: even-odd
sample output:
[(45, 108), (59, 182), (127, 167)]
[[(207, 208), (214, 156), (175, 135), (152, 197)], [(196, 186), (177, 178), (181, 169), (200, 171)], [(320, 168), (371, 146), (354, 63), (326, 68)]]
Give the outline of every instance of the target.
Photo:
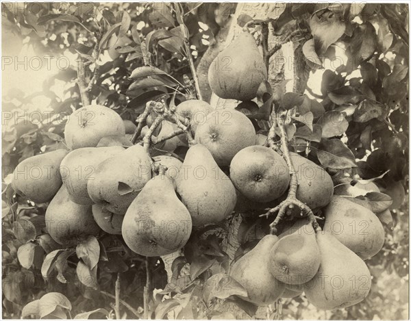
[(318, 309), (332, 310), (360, 303), (369, 294), (371, 274), (366, 264), (328, 232), (316, 233), (319, 272), (303, 285), (307, 300)]

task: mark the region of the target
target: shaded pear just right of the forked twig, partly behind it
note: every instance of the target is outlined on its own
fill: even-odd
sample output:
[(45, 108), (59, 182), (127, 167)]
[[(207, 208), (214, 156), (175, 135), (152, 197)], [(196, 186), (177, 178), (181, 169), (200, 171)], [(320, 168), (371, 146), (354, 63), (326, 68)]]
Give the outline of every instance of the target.
[(297, 199), (310, 209), (319, 209), (327, 205), (334, 194), (334, 183), (329, 174), (306, 157), (290, 153), (290, 158), (299, 184)]

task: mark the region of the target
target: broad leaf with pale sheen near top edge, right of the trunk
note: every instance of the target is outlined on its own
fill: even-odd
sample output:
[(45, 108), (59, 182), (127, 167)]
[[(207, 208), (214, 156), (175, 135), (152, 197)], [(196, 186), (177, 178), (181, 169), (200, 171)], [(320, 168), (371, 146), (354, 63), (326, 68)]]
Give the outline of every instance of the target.
[(314, 37), (314, 47), (319, 56), (327, 51), (328, 47), (336, 42), (345, 31), (345, 23), (334, 12), (327, 10), (321, 16), (318, 12), (310, 18), (310, 29)]

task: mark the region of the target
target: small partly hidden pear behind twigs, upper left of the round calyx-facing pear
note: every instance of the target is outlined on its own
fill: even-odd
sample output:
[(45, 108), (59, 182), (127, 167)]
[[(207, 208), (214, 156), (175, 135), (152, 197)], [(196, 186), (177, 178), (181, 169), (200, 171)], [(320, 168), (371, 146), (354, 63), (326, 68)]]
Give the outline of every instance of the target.
[(188, 99), (187, 101), (179, 103), (175, 110), (177, 115), (182, 116), (182, 118), (188, 118), (192, 134), (194, 134), (197, 125), (204, 123), (206, 116), (212, 112), (212, 107), (206, 101)]

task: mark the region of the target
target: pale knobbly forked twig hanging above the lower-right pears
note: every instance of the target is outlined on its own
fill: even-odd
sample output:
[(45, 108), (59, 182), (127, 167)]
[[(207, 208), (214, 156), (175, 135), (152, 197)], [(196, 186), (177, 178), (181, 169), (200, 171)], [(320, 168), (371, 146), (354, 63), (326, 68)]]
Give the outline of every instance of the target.
[[(286, 160), (288, 170), (290, 171), (290, 188), (288, 189), (288, 195), (287, 198), (282, 201), (279, 205), (276, 207), (269, 209), (269, 211), (266, 212), (266, 214), (262, 214), (260, 216), (265, 216), (268, 218), (271, 214), (275, 214), (278, 212), (277, 217), (275, 220), (270, 224), (270, 233), (275, 234), (277, 233), (277, 224), (279, 223), (282, 218), (286, 215), (287, 209), (292, 209), (292, 207), (299, 207), (301, 209), (301, 214), (306, 213), (308, 215), (308, 218), (310, 219), (310, 222), (312, 224), (312, 227), (314, 228), (314, 231), (319, 232), (321, 231), (321, 227), (319, 227), (319, 223), (316, 221), (316, 218), (314, 214), (312, 213), (312, 210), (310, 207), (308, 207), (306, 204), (302, 203), (297, 199), (297, 188), (298, 188), (298, 179), (297, 175), (295, 173), (295, 168), (292, 166), (291, 162), (291, 157), (290, 157), (290, 151), (288, 151), (288, 143), (287, 143), (287, 133), (286, 129), (284, 129), (284, 118), (285, 115), (280, 115), (278, 120), (273, 123), (273, 127), (275, 127), (276, 123), (279, 128), (279, 133), (281, 136), (281, 146), (282, 146), (282, 151), (283, 151), (283, 157)], [(270, 129), (271, 135), (272, 130)], [(275, 133), (275, 129), (274, 129)]]

